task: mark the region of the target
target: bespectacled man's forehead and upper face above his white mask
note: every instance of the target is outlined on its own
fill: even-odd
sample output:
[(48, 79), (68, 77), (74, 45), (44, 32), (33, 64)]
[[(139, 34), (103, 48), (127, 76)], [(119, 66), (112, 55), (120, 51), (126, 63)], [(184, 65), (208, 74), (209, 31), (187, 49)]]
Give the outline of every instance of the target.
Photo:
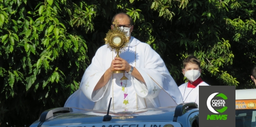
[[(114, 18), (114, 22), (117, 22), (118, 26), (123, 26), (124, 28), (128, 28), (129, 29), (129, 35), (133, 30), (133, 25), (130, 24), (130, 20), (128, 18), (127, 15), (124, 14), (119, 14), (116, 15)], [(113, 28), (113, 26), (111, 25), (111, 29)]]

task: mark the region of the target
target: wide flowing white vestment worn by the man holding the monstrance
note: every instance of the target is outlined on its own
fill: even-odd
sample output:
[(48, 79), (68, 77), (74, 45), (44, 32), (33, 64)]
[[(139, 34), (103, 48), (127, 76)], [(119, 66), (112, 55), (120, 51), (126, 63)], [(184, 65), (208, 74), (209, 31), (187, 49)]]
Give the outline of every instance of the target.
[[(125, 73), (128, 80), (122, 80), (121, 84), (123, 73), (113, 73), (104, 87), (93, 91), (116, 56), (104, 45), (85, 70), (79, 90), (67, 99), (64, 107), (107, 109), (110, 97), (110, 109), (168, 107), (182, 103), (181, 92), (164, 61), (147, 43), (131, 36), (126, 51), (119, 55), (138, 70), (146, 83)], [(128, 100), (128, 104), (124, 104), (124, 100)]]

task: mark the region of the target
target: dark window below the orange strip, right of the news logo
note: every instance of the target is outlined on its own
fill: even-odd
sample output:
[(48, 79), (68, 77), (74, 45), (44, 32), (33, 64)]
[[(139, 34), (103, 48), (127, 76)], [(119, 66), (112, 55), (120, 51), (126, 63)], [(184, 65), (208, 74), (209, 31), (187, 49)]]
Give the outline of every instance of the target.
[(235, 127), (256, 127), (256, 109), (235, 110)]

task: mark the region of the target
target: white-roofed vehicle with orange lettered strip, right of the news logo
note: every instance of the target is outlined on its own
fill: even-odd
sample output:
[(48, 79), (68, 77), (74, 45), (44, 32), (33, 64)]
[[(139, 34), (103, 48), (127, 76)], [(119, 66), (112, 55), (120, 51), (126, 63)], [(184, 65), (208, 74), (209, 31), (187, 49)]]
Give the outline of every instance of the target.
[(235, 127), (256, 127), (256, 89), (235, 90)]

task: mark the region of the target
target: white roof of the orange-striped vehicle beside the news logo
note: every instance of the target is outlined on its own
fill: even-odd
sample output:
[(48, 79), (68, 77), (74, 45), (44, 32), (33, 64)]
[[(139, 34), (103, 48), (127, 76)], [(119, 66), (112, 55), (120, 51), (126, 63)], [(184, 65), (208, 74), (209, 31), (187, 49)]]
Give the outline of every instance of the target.
[(235, 100), (256, 99), (256, 89), (235, 90)]

